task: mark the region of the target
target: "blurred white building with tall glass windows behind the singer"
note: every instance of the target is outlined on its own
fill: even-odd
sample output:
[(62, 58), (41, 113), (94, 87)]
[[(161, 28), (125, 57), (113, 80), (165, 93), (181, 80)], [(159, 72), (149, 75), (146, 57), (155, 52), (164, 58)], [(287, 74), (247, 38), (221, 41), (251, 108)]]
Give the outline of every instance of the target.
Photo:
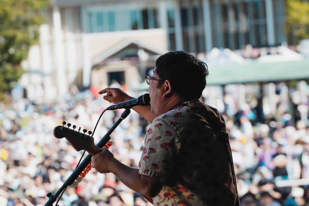
[(112, 79), (132, 88), (168, 50), (280, 45), (284, 7), (281, 0), (54, 0), (21, 83), (60, 94), (72, 83)]

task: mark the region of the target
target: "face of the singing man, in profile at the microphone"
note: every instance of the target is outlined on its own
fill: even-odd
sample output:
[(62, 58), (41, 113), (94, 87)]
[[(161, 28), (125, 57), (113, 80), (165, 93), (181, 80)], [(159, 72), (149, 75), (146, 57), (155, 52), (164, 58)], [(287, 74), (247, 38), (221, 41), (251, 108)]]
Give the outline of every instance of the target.
[[(159, 76), (156, 73), (157, 68), (154, 69), (152, 77)], [(163, 92), (162, 88), (157, 88), (158, 81), (157, 80), (151, 80), (149, 85), (149, 95), (150, 95), (150, 106), (151, 111), (155, 115), (161, 115), (162, 108), (160, 108), (160, 105), (162, 105), (163, 102)]]

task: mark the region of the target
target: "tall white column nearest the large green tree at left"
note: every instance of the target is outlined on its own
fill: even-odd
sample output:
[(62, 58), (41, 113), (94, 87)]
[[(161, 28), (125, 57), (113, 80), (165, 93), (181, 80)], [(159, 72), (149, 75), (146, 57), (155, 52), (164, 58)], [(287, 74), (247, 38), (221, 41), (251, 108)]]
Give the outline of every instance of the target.
[(55, 55), (55, 70), (57, 76), (57, 86), (59, 94), (65, 94), (68, 91), (66, 68), (65, 68), (65, 53), (61, 30), (61, 16), (59, 6), (53, 6), (53, 29), (54, 29), (54, 45), (53, 50)]

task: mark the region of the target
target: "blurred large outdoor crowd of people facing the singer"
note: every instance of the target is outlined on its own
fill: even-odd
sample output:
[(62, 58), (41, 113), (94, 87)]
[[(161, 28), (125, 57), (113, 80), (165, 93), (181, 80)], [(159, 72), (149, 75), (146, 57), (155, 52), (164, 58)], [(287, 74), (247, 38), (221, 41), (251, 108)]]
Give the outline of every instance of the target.
[[(55, 138), (53, 128), (66, 121), (82, 130), (93, 131), (99, 115), (110, 105), (96, 92), (95, 88), (78, 91), (72, 87), (66, 98), (55, 103), (38, 104), (28, 99), (19, 99), (9, 105), (0, 103), (1, 206), (44, 205), (48, 200), (46, 194), (54, 194), (62, 186), (83, 151), (74, 150), (64, 138)], [(203, 96), (202, 101), (211, 105), (212, 99)], [(308, 109), (308, 97), (307, 93), (307, 103), (294, 101), (293, 108), (300, 105)], [(222, 98), (223, 109), (219, 111), (230, 134), (241, 206), (309, 205), (308, 111), (305, 119), (302, 115), (302, 118), (297, 116), (294, 121), (287, 121), (288, 106), (280, 91), (277, 99), (275, 112), (270, 112), (265, 121), (260, 122), (256, 120), (258, 111), (250, 104), (239, 110), (238, 99), (233, 95), (226, 93)], [(93, 135), (95, 143), (122, 111), (104, 113)], [(132, 110), (111, 135), (110, 151), (116, 159), (138, 168), (148, 125)], [(101, 174), (95, 169), (90, 170), (76, 187), (68, 187), (58, 204), (151, 205), (112, 173)]]

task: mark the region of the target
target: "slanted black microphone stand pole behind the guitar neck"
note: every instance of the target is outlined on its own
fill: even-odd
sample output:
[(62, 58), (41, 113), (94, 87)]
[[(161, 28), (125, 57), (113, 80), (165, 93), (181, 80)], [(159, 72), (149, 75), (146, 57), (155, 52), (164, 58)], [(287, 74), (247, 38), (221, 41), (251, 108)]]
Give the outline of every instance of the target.
[[(97, 143), (97, 147), (103, 148), (103, 146), (111, 139), (109, 136), (116, 127), (124, 120), (129, 114), (131, 110), (130, 107), (126, 108), (124, 112), (122, 112), (119, 119), (113, 124), (113, 126), (108, 130), (108, 132), (104, 135), (104, 137)], [(49, 200), (44, 204), (44, 206), (52, 206), (53, 203), (57, 200), (57, 197), (61, 194), (63, 190), (65, 190), (69, 185), (73, 184), (74, 180), (80, 175), (81, 172), (87, 167), (87, 165), (91, 162), (91, 155), (88, 154), (83, 162), (81, 162), (78, 167), (72, 172), (70, 177), (66, 180), (66, 182), (58, 189), (58, 191), (53, 195), (51, 192), (47, 193), (47, 197)]]

